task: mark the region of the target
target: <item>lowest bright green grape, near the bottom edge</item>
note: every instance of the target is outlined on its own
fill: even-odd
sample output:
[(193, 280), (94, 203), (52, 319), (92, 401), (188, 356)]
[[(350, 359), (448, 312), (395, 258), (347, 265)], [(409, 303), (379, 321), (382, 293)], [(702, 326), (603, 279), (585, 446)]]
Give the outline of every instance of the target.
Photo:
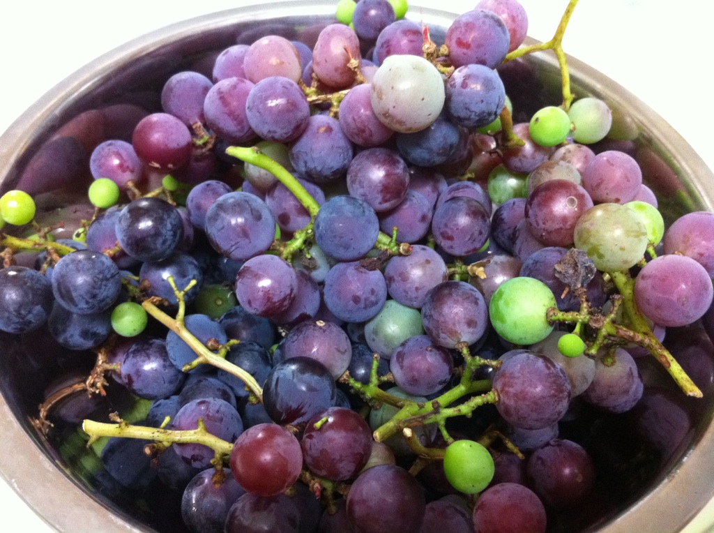
[(472, 440), (457, 440), (444, 453), (444, 474), (453, 488), (466, 494), (481, 492), (493, 479), (496, 467), (488, 449)]

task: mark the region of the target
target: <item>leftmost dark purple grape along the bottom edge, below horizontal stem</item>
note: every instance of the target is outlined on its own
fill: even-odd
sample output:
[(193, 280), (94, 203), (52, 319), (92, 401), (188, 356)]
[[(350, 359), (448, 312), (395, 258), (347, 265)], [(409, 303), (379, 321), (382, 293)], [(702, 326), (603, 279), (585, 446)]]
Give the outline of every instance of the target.
[(183, 491), (181, 518), (192, 533), (223, 533), (228, 511), (246, 491), (233, 479), (231, 471), (223, 468), (226, 479), (213, 483), (215, 469), (196, 474)]

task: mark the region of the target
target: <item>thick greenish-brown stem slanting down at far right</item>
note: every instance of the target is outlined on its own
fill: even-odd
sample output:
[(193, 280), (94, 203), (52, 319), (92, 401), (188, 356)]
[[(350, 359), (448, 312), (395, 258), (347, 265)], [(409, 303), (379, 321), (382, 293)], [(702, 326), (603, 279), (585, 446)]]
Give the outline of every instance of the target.
[[(700, 389), (694, 384), (668, 349), (663, 347), (662, 343), (658, 341), (645, 320), (645, 317), (643, 317), (643, 314), (637, 308), (634, 296), (635, 281), (628, 274), (625, 274), (625, 272), (610, 272), (609, 274), (615, 283), (615, 287), (617, 287), (620, 294), (623, 295), (623, 306), (632, 331), (641, 337), (638, 338), (638, 344), (647, 348), (653, 356), (657, 358), (687, 396), (701, 398), (702, 392)], [(616, 333), (617, 327), (613, 324), (611, 324), (611, 327), (613, 327), (613, 331)]]

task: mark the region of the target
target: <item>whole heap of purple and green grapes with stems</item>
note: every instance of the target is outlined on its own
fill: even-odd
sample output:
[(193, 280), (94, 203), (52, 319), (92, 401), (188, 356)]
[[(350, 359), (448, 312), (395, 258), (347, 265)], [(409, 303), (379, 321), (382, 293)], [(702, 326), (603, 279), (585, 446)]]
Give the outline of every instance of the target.
[(0, 198), (0, 330), (64, 370), (37, 426), (190, 532), (585, 527), (684, 442), (656, 361), (710, 392), (714, 214), (665, 226), (567, 69), (523, 105), (517, 0), (438, 43), (406, 11), (341, 0), (107, 108), (64, 224)]

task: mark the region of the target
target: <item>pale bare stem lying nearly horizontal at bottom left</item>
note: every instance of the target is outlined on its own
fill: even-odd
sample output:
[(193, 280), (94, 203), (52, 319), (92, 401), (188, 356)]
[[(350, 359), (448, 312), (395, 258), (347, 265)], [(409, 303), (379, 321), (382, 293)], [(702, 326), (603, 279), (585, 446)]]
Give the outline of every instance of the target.
[(159, 429), (158, 427), (134, 426), (124, 421), (118, 424), (105, 424), (104, 422), (85, 420), (82, 422), (82, 431), (89, 435), (87, 446), (100, 437), (122, 437), (151, 440), (158, 442), (164, 449), (171, 444), (203, 444), (203, 446), (213, 449), (216, 455), (221, 456), (229, 456), (233, 449), (233, 444), (209, 433), (202, 418), (198, 419), (196, 429)]

